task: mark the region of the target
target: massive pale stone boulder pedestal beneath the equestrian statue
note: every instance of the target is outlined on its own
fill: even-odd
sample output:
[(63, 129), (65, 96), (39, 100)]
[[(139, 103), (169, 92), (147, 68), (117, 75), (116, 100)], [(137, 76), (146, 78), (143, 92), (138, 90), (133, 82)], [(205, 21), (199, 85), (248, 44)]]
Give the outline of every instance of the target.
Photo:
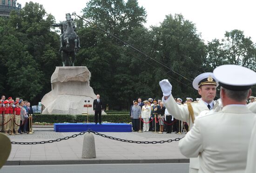
[(56, 67), (51, 77), (52, 91), (41, 100), (42, 114), (76, 115), (87, 113), (87, 109), (89, 114), (94, 114), (92, 107), (84, 107), (85, 104), (93, 105), (96, 99), (90, 79), (87, 67)]

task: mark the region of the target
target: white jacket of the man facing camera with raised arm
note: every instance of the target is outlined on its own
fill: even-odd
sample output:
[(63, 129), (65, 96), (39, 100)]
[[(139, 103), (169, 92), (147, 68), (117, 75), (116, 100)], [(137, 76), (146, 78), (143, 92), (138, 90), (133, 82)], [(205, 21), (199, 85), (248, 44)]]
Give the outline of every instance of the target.
[[(163, 104), (168, 110), (168, 113), (170, 113), (177, 120), (187, 122), (189, 125), (189, 130), (193, 127), (192, 119), (189, 118), (188, 104), (178, 105), (172, 95), (170, 95), (167, 100), (164, 100), (164, 97), (162, 100)], [(201, 99), (198, 102), (192, 102), (191, 105), (193, 107), (195, 117), (197, 117), (203, 110), (209, 110)], [(199, 169), (199, 158), (190, 158), (189, 167)]]

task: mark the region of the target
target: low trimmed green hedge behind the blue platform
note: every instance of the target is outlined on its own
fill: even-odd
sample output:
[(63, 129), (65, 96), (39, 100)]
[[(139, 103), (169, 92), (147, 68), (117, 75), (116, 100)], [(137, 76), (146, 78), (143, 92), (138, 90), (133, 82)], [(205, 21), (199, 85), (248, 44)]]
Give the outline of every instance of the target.
[[(129, 114), (108, 114), (101, 115), (102, 121), (113, 123), (129, 123), (131, 118)], [(81, 123), (87, 121), (87, 115), (56, 115), (56, 114), (34, 114), (33, 122), (47, 122), (47, 123)], [(89, 122), (94, 122), (94, 115), (88, 116)]]

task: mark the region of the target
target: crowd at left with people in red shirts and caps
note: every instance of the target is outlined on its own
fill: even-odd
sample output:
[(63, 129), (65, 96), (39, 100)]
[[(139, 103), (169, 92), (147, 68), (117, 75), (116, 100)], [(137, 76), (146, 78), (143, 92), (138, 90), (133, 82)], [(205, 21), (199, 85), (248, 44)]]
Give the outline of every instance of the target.
[(33, 109), (29, 101), (19, 97), (6, 99), (5, 95), (0, 100), (0, 132), (6, 134), (22, 134), (29, 132), (29, 115)]

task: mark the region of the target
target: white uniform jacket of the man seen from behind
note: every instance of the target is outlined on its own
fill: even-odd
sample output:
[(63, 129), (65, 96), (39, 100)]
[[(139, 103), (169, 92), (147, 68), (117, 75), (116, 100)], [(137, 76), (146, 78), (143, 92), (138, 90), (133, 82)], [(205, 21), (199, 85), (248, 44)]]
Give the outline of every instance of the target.
[(254, 117), (245, 105), (200, 116), (180, 140), (180, 151), (187, 157), (199, 155), (198, 173), (243, 173)]

